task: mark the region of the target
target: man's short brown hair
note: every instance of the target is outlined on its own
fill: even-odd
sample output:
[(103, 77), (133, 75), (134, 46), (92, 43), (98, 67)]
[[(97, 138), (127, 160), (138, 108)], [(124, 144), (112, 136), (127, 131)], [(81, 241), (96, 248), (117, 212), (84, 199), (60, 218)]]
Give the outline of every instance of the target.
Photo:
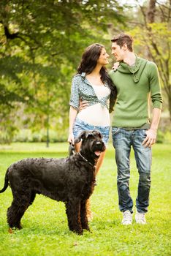
[(116, 44), (120, 47), (126, 44), (129, 51), (133, 51), (133, 38), (129, 34), (118, 34), (117, 36), (114, 36), (113, 39), (111, 39), (111, 41), (116, 42)]

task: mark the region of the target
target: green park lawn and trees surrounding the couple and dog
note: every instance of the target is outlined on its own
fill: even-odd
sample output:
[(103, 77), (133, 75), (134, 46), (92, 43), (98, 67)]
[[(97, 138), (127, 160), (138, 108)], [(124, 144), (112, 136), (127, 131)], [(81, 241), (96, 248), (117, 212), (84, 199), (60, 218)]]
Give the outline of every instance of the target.
[[(157, 64), (164, 100), (153, 146), (148, 225), (121, 226), (110, 141), (91, 199), (92, 233), (70, 233), (63, 204), (37, 196), (23, 217), (23, 230), (8, 234), (7, 189), (0, 197), (1, 255), (171, 255), (170, 18), (170, 0), (0, 1), (0, 187), (14, 161), (67, 156), (71, 81), (88, 45), (102, 43), (111, 53), (114, 34), (131, 34), (135, 53)], [(114, 61), (110, 54), (107, 69)], [(133, 154), (131, 162), (135, 199)]]

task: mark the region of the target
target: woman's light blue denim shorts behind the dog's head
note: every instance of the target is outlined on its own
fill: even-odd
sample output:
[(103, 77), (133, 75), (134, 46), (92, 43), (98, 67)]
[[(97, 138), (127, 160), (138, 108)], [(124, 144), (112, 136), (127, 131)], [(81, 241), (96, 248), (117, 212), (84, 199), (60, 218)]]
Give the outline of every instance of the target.
[(99, 132), (102, 133), (102, 140), (104, 142), (104, 145), (107, 146), (108, 140), (109, 140), (109, 134), (110, 134), (110, 127), (96, 127), (94, 125), (88, 124), (85, 121), (80, 120), (79, 118), (75, 119), (75, 124), (73, 127), (73, 134), (75, 138), (80, 134), (80, 132), (83, 131), (91, 131), (93, 129), (97, 129)]

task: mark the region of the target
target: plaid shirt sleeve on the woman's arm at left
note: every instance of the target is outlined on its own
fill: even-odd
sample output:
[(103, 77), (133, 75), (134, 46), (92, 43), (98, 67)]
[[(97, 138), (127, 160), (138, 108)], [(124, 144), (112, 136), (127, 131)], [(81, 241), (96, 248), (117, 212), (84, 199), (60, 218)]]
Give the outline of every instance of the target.
[(69, 105), (76, 110), (78, 110), (80, 104), (79, 83), (80, 79), (78, 76), (72, 78), (72, 89)]

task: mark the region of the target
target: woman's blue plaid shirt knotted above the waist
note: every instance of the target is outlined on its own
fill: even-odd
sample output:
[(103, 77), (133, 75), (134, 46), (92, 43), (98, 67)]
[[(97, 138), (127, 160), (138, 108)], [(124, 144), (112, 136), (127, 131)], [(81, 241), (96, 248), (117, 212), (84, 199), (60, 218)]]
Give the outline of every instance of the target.
[[(104, 86), (107, 86), (107, 88), (110, 89), (107, 83), (104, 83)], [(93, 87), (86, 78), (85, 72), (83, 72), (81, 75), (75, 75), (72, 79), (72, 90), (69, 105), (78, 110), (80, 105), (80, 99), (86, 100), (89, 105), (100, 103), (103, 107), (109, 109), (108, 99), (110, 99), (110, 94), (106, 97), (98, 99), (98, 97), (96, 97)]]

